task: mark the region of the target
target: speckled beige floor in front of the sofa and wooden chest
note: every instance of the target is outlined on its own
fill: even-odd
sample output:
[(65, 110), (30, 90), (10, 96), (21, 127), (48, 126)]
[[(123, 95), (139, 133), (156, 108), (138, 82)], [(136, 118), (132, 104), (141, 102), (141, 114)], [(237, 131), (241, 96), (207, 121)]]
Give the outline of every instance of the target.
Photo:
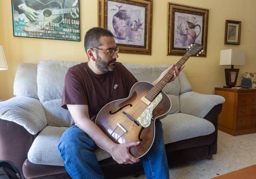
[[(173, 167), (169, 173), (170, 179), (210, 179), (253, 164), (256, 164), (256, 133), (232, 136), (219, 131), (218, 151), (213, 159)], [(146, 177), (141, 175), (137, 179)]]

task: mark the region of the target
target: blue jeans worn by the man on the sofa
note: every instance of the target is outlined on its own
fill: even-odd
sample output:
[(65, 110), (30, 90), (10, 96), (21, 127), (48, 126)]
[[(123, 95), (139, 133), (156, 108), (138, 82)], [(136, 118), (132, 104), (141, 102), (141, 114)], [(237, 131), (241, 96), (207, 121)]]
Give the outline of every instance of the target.
[[(101, 179), (104, 175), (94, 153), (95, 142), (73, 125), (67, 129), (59, 142), (58, 149), (64, 166), (73, 179)], [(147, 179), (169, 179), (169, 168), (163, 143), (163, 129), (156, 121), (156, 134), (152, 147), (141, 157)]]

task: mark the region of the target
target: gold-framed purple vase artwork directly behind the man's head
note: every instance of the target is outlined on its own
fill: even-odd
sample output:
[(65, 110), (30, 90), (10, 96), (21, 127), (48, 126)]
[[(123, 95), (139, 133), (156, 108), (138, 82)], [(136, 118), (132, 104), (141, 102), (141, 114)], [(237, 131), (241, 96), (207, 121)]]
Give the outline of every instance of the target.
[(152, 0), (98, 0), (98, 26), (110, 30), (119, 52), (151, 55)]

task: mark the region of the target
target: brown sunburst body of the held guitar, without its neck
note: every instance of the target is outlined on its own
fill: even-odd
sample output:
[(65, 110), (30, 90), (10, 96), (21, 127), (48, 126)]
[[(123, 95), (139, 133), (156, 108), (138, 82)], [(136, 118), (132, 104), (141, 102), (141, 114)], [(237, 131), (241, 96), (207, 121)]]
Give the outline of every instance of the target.
[[(152, 101), (155, 107), (141, 100), (152, 87), (154, 87), (153, 84), (145, 81), (135, 83), (128, 98), (106, 104), (98, 113), (95, 121), (96, 125), (117, 144), (139, 141), (138, 146), (130, 148), (130, 153), (137, 158), (145, 155), (154, 142), (155, 120), (167, 116), (171, 109), (171, 101), (164, 92), (158, 95), (161, 99), (159, 98), (157, 103)], [(144, 124), (143, 115), (150, 117), (148, 127), (141, 125)]]

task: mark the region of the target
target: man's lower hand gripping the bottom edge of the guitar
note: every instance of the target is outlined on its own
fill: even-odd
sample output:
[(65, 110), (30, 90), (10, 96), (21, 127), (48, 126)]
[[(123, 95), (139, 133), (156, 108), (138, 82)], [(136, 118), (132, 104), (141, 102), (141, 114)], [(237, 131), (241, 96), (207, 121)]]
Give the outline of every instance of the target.
[(140, 159), (135, 158), (129, 152), (133, 146), (139, 145), (139, 142), (132, 142), (126, 144), (116, 144), (110, 152), (113, 159), (119, 164), (133, 164), (139, 162)]

